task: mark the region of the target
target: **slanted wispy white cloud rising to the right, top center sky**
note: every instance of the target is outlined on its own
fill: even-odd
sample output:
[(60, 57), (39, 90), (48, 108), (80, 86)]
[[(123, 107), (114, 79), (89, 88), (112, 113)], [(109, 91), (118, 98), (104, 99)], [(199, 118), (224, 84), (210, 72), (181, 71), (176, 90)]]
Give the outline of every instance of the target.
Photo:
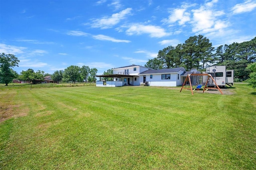
[(127, 15), (131, 14), (132, 8), (126, 8), (119, 13), (112, 14), (110, 17), (103, 17), (100, 19), (94, 19), (92, 23), (92, 28), (112, 28), (114, 25), (118, 24), (120, 20), (123, 20)]

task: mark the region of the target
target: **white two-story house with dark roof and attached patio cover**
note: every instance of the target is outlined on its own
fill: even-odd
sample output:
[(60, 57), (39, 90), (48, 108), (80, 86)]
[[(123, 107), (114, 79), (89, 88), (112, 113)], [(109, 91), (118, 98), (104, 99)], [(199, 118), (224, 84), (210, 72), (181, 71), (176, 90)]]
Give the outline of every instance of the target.
[(113, 74), (98, 75), (97, 77), (112, 77), (114, 81), (98, 81), (96, 86), (117, 87), (117, 86), (140, 86), (145, 82), (149, 86), (181, 86), (186, 70), (180, 68), (167, 68), (154, 70), (139, 65), (130, 65), (119, 68), (112, 68)]

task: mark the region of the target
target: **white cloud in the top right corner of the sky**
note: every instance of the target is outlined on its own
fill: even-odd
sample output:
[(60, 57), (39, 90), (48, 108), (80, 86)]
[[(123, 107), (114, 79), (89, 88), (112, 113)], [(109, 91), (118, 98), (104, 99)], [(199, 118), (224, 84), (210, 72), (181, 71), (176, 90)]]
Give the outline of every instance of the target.
[(236, 4), (232, 8), (232, 11), (233, 11), (233, 14), (240, 14), (240, 13), (244, 13), (244, 12), (250, 12), (250, 11), (254, 10), (254, 8), (256, 8), (256, 2), (247, 0), (244, 3)]

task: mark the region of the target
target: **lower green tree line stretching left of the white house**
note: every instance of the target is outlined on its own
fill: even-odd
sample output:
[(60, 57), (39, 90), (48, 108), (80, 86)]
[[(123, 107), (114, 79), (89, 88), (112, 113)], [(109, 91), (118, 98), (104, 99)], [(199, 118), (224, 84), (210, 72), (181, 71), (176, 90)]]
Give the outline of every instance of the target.
[(96, 68), (89, 68), (89, 66), (69, 66), (63, 70), (57, 70), (53, 74), (44, 73), (44, 71), (34, 71), (29, 68), (26, 71), (18, 74), (12, 69), (14, 66), (18, 66), (20, 61), (13, 54), (0, 54), (0, 83), (8, 86), (8, 83), (13, 79), (26, 81), (32, 84), (41, 83), (44, 81), (45, 76), (51, 76), (54, 82), (96, 82), (96, 74), (98, 70)]

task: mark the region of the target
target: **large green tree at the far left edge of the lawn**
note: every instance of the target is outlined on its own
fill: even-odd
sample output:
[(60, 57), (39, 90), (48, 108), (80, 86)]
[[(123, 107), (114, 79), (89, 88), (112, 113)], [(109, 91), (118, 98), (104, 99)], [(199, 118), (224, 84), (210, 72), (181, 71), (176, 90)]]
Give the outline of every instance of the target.
[(14, 66), (18, 66), (20, 60), (13, 54), (0, 54), (0, 82), (8, 86), (8, 83), (12, 82), (15, 77), (13, 70)]

